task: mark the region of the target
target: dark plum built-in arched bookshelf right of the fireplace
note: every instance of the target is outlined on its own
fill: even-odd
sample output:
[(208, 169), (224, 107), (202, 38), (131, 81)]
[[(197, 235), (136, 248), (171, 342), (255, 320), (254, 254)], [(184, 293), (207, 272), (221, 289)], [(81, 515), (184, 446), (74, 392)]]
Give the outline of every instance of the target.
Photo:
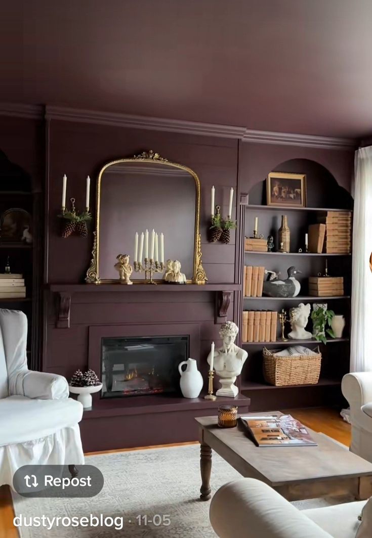
[[(306, 173), (306, 164), (304, 166), (305, 169), (300, 169), (298, 172)], [(282, 171), (286, 171), (285, 165), (283, 165)], [(328, 181), (327, 185), (325, 179)], [(297, 306), (301, 302), (310, 303), (311, 306), (314, 303), (326, 302), (328, 309), (334, 310), (336, 314), (345, 316), (346, 326), (343, 330), (342, 338), (328, 338), (326, 345), (317, 342), (315, 338), (283, 342), (280, 339), (279, 322), (276, 342), (242, 342), (242, 348), (248, 351), (249, 356), (242, 371), (240, 386), (242, 393), (251, 398), (253, 410), (270, 409), (272, 406), (285, 408), (333, 404), (341, 402), (342, 399), (341, 379), (343, 374), (349, 371), (352, 254), (305, 252), (305, 233), (307, 233), (310, 224), (317, 223), (321, 212), (352, 211), (353, 201), (352, 197), (344, 189), (338, 187), (335, 179), (333, 178), (332, 180), (332, 176), (327, 171), (324, 177), (320, 175), (317, 178), (312, 177), (311, 181), (308, 179), (307, 194), (308, 204), (311, 207), (283, 208), (265, 205), (265, 181), (258, 183), (248, 193), (249, 203), (241, 208), (241, 230), (244, 230), (244, 237), (252, 237), (255, 218), (257, 217), (258, 235), (262, 234), (265, 239), (272, 235), (275, 240), (275, 251), (244, 251), (244, 237), (241, 237), (242, 281), (244, 265), (263, 266), (267, 270), (279, 272), (282, 279), (287, 278), (287, 268), (295, 266), (301, 271), (300, 274), (296, 275), (301, 284), (301, 291), (297, 297), (289, 298), (247, 297), (244, 296), (243, 283), (242, 310), (273, 310), (280, 312), (284, 308), (288, 313), (290, 308)], [(291, 252), (288, 253), (277, 252), (278, 229), (282, 215), (287, 215), (291, 231)], [(299, 252), (299, 250), (301, 251)], [(324, 275), (326, 264), (329, 275), (343, 277), (343, 295), (318, 297), (308, 293), (308, 277)], [(290, 325), (287, 323), (285, 334), (289, 330)], [(309, 318), (306, 330), (312, 332), (311, 318)], [(268, 347), (271, 351), (273, 349), (281, 350), (289, 345), (306, 345), (310, 349), (317, 349), (319, 346), (322, 353), (322, 367), (317, 385), (273, 387), (266, 384), (262, 372), (263, 348)]]

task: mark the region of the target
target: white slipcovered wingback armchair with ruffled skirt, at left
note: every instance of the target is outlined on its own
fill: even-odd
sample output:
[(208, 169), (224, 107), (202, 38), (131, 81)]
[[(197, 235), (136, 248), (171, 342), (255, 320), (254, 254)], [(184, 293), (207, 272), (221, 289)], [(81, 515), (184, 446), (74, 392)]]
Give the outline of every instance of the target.
[(23, 465), (83, 464), (80, 402), (64, 377), (27, 369), (27, 318), (0, 309), (0, 486)]

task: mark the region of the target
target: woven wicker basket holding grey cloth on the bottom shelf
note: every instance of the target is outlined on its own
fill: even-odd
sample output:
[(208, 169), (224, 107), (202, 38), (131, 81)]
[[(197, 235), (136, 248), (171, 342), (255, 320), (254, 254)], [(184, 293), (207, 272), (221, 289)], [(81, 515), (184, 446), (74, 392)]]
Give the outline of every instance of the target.
[(265, 381), (276, 387), (287, 385), (316, 385), (319, 381), (321, 353), (315, 355), (276, 355), (278, 350), (263, 349)]

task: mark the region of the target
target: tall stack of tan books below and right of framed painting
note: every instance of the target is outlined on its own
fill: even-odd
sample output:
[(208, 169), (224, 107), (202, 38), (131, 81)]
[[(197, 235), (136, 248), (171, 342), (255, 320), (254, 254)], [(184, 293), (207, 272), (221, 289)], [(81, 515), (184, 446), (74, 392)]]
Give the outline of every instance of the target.
[(350, 211), (324, 211), (318, 221), (326, 225), (324, 252), (348, 254), (350, 252), (352, 214)]

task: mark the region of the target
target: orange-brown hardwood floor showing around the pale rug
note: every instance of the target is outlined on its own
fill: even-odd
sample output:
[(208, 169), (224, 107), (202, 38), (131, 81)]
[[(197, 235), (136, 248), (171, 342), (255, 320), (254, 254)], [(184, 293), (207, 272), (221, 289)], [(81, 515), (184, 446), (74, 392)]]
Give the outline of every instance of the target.
[[(296, 419), (305, 424), (305, 426), (308, 426), (314, 431), (321, 431), (322, 433), (345, 445), (350, 444), (350, 425), (341, 419), (340, 413), (336, 409), (315, 407), (307, 409), (285, 409), (285, 412), (290, 413), (292, 416), (296, 417)], [(191, 443), (178, 444), (183, 445)], [(130, 450), (139, 450), (140, 448), (154, 447), (139, 447), (138, 449)], [(121, 450), (107, 450), (104, 452), (99, 452), (98, 454), (108, 454), (110, 452), (121, 452)], [(89, 452), (87, 455), (92, 454), (97, 454), (97, 452)], [(17, 529), (13, 527), (12, 523), (13, 516), (14, 514), (9, 487), (2, 486), (0, 487), (0, 538), (18, 538)]]

